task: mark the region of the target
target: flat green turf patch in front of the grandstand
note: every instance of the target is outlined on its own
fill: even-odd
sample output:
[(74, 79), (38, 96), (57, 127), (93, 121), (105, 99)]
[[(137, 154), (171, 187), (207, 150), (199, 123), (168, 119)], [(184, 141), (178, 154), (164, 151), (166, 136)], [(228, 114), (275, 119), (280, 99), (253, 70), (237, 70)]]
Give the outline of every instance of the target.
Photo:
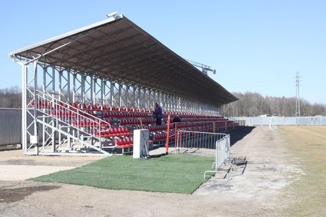
[[(192, 194), (212, 170), (214, 157), (168, 154), (142, 159), (114, 155), (72, 170), (30, 180), (88, 185), (105, 189)], [(207, 174), (210, 178), (214, 174)]]

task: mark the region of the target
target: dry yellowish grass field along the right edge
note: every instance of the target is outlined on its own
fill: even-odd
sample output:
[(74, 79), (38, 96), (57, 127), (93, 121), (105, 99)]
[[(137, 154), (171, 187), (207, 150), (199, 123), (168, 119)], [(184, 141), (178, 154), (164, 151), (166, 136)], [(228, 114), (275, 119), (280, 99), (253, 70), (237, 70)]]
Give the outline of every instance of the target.
[(324, 216), (326, 213), (326, 126), (279, 126), (285, 146), (303, 174), (284, 189), (289, 205), (282, 216)]

